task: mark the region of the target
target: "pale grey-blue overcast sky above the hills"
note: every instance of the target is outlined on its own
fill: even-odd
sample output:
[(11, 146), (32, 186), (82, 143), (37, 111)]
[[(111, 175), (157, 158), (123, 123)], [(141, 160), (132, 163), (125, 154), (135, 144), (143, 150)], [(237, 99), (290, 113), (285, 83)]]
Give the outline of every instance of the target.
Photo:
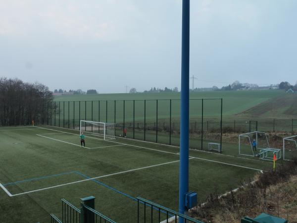
[[(182, 0), (0, 0), (0, 76), (180, 89)], [(297, 81), (297, 0), (191, 0), (196, 87)]]

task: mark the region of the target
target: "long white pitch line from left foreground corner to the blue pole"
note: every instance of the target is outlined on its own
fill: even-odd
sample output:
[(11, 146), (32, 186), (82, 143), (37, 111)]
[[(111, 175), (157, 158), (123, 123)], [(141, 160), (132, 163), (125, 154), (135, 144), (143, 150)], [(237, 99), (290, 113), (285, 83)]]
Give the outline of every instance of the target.
[[(193, 158), (190, 158), (190, 159), (193, 159)], [(159, 167), (159, 166), (163, 166), (163, 165), (167, 165), (167, 164), (173, 164), (173, 163), (177, 163), (177, 162), (179, 162), (179, 160), (171, 161), (171, 162), (167, 162), (167, 163), (163, 163), (163, 164), (152, 165), (152, 166), (148, 166), (148, 167), (140, 167), (140, 168), (136, 168), (136, 169), (125, 170), (125, 171), (111, 173), (111, 174), (107, 174), (107, 175), (103, 175), (103, 176), (97, 176), (97, 177), (93, 177), (93, 178), (78, 180), (78, 181), (74, 181), (74, 182), (70, 182), (70, 183), (59, 184), (59, 185), (46, 187), (46, 188), (41, 188), (41, 189), (37, 189), (37, 190), (31, 190), (31, 191), (27, 191), (27, 192), (23, 192), (23, 193), (19, 193), (19, 194), (12, 194), (11, 197), (19, 196), (19, 195), (23, 195), (23, 194), (29, 194), (29, 193), (33, 193), (33, 192), (37, 192), (37, 191), (41, 191), (41, 190), (48, 190), (48, 189), (51, 189), (51, 188), (66, 186), (66, 185), (70, 185), (70, 184), (74, 184), (74, 183), (80, 183), (80, 182), (85, 182), (85, 181), (89, 181), (89, 180), (99, 179), (99, 178), (103, 178), (103, 177), (107, 177), (107, 176), (118, 175), (118, 174), (122, 174), (122, 173), (126, 173), (126, 172), (133, 172), (133, 171), (140, 170), (140, 169), (146, 169), (146, 168), (151, 168), (151, 167)]]

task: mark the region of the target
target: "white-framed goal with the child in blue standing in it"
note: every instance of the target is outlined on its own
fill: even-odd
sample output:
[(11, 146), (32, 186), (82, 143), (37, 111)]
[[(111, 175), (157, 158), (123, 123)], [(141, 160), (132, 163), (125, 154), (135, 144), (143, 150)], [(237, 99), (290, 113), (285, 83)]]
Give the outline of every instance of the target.
[[(256, 148), (253, 148), (253, 142), (256, 143)], [(239, 135), (239, 155), (254, 157), (261, 149), (266, 148), (270, 147), (265, 132), (255, 131)]]

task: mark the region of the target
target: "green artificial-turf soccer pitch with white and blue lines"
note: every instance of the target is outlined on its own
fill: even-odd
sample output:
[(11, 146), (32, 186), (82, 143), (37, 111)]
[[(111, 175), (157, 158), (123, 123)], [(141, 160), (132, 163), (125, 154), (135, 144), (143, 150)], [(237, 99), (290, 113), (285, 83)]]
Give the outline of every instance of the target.
[[(50, 213), (61, 217), (60, 199), (79, 207), (87, 196), (118, 223), (136, 222), (138, 196), (178, 209), (178, 147), (87, 136), (84, 148), (77, 130), (53, 126), (0, 131), (0, 222), (48, 223)], [(271, 168), (269, 162), (194, 150), (189, 159), (189, 190), (198, 193), (198, 203)]]

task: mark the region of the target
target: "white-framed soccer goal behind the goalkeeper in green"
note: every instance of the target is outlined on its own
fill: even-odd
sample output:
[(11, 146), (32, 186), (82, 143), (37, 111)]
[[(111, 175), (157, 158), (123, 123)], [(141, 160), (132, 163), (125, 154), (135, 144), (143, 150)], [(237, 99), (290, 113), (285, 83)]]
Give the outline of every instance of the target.
[(80, 135), (84, 132), (86, 136), (99, 136), (104, 140), (115, 139), (115, 123), (80, 120)]

